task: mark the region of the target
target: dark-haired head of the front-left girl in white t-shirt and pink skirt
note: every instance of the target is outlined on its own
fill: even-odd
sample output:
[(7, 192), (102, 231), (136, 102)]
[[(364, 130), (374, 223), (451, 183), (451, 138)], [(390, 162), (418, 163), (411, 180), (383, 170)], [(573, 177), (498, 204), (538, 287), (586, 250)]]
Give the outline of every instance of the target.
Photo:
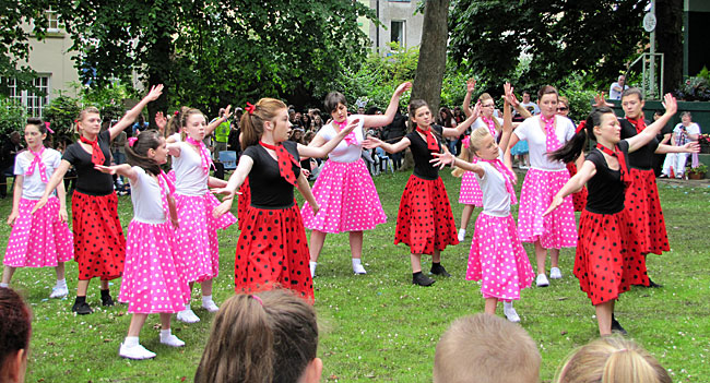
[(156, 130), (146, 130), (126, 143), (126, 158), (131, 166), (140, 166), (155, 176), (161, 173), (161, 165), (167, 163), (165, 137)]

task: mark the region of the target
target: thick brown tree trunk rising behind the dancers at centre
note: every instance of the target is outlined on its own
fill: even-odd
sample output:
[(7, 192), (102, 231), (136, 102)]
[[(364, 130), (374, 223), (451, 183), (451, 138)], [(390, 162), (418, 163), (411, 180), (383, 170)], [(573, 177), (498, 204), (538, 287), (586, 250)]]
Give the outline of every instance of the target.
[(426, 1), (419, 61), (412, 87), (412, 99), (424, 99), (435, 116), (441, 103), (441, 82), (447, 61), (449, 1)]

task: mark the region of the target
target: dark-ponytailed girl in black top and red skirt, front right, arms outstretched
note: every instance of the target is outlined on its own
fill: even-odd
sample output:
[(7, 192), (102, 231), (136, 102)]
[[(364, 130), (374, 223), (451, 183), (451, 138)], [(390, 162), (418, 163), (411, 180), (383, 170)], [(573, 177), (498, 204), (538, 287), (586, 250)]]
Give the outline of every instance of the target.
[[(592, 111), (584, 129), (551, 156), (566, 163), (575, 160), (587, 143), (587, 136), (596, 140), (579, 172), (555, 195), (545, 216), (565, 204), (565, 198), (587, 183), (587, 206), (579, 222), (579, 242), (575, 259), (575, 275), (582, 291), (596, 310), (600, 335), (613, 328), (614, 303), (631, 284), (648, 285), (643, 258), (631, 247), (638, 240), (634, 223), (624, 213), (625, 189), (632, 177), (629, 173), (628, 153), (642, 148), (661, 131), (676, 111), (676, 101), (664, 97), (665, 113), (639, 134), (620, 140), (620, 130), (614, 111), (603, 107)], [(618, 322), (614, 326), (624, 332)]]

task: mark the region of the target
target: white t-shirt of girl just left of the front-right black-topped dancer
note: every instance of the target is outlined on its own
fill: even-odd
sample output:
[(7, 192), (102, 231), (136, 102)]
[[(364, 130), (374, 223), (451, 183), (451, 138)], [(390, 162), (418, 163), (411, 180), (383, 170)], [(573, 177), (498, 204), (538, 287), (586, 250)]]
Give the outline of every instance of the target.
[[(547, 158), (547, 136), (544, 130), (544, 125), (541, 125), (540, 116), (534, 116), (518, 125), (513, 134), (520, 140), (528, 141), (530, 164), (533, 168), (541, 170), (565, 169), (565, 163)], [(560, 144), (565, 145), (567, 141), (575, 136), (575, 123), (567, 117), (555, 116), (555, 133)]]

